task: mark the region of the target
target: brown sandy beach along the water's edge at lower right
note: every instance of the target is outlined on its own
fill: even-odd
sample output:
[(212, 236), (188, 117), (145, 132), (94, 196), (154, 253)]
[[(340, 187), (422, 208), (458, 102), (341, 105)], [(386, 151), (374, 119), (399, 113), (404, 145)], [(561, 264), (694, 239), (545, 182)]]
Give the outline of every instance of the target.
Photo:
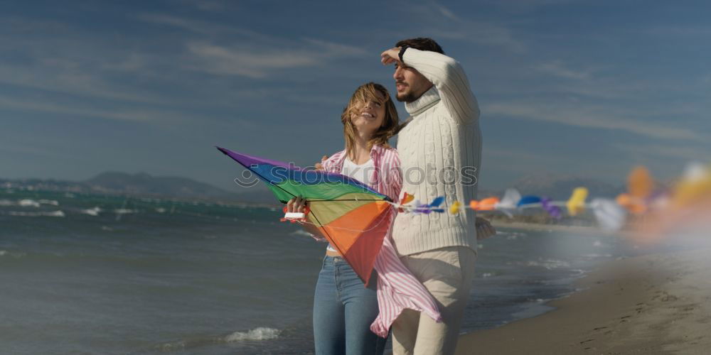
[(555, 310), (461, 336), (456, 354), (709, 354), (711, 249), (610, 261)]

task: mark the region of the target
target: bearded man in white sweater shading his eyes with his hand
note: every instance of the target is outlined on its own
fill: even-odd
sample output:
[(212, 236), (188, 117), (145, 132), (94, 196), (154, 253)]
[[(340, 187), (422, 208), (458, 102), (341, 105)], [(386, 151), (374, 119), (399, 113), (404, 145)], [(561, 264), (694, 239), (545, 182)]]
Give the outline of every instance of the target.
[[(430, 38), (401, 40), (381, 61), (395, 64), (397, 100), (410, 114), (397, 138), (402, 191), (422, 203), (444, 196), (447, 207), (476, 199), (479, 106), (459, 62)], [(475, 223), (471, 209), (397, 214), (392, 229), (397, 253), (437, 300), (442, 322), (403, 311), (392, 325), (395, 354), (454, 354), (474, 278)], [(488, 223), (479, 231), (496, 233)]]

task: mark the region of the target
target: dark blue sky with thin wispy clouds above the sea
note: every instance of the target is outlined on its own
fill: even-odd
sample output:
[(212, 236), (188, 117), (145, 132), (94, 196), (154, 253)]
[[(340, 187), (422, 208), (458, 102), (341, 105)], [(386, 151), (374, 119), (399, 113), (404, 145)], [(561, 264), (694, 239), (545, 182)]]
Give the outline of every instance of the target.
[[(707, 1), (3, 1), (0, 178), (177, 175), (238, 191), (213, 146), (343, 149), (380, 53), (434, 38), (479, 100), (479, 184), (660, 179), (711, 152)], [(397, 104), (400, 119), (407, 118)]]

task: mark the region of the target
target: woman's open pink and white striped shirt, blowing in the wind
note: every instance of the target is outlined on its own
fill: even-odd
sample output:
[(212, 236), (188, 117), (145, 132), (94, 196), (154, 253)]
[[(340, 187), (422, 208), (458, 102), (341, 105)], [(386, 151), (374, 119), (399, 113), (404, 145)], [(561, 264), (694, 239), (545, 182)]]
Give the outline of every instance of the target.
[[(394, 148), (375, 145), (370, 149), (370, 158), (373, 159), (375, 166), (370, 178), (370, 188), (390, 197), (393, 202), (397, 202), (402, 187), (400, 157), (397, 155), (397, 151)], [(322, 163), (324, 170), (341, 173), (345, 159), (346, 151), (331, 155), (331, 158)], [(388, 223), (392, 222), (395, 213), (393, 207), (393, 213), (390, 215)], [(375, 322), (370, 324), (370, 330), (383, 338), (387, 337), (392, 322), (395, 322), (397, 316), (405, 308), (425, 312), (433, 320), (442, 321), (439, 310), (437, 310), (437, 303), (434, 302), (432, 295), (397, 256), (391, 234), (392, 229), (387, 232), (385, 239), (383, 239), (383, 247), (375, 258), (375, 271), (378, 271), (377, 293), (380, 313), (375, 318)]]

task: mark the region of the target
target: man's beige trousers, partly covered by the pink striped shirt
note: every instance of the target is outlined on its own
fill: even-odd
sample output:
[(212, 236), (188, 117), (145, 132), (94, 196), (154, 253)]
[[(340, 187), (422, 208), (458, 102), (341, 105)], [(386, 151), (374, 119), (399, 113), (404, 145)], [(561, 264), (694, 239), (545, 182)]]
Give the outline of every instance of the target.
[(392, 324), (393, 354), (454, 354), (474, 278), (476, 253), (466, 246), (449, 246), (400, 260), (432, 293), (442, 323), (424, 313), (404, 310)]

